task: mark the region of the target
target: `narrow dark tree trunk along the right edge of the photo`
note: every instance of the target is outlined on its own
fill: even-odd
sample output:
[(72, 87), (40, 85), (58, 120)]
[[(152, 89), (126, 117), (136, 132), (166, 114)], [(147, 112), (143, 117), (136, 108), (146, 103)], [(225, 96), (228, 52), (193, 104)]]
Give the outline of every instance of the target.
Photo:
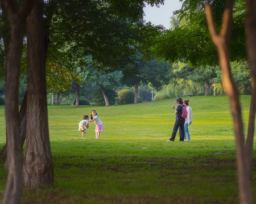
[(246, 16), (246, 46), (247, 56), (249, 58), (249, 67), (251, 71), (251, 105), (248, 123), (248, 133), (246, 139), (246, 155), (249, 157), (251, 165), (253, 161), (253, 138), (255, 131), (255, 111), (256, 111), (256, 2), (255, 0), (246, 0), (247, 16)]

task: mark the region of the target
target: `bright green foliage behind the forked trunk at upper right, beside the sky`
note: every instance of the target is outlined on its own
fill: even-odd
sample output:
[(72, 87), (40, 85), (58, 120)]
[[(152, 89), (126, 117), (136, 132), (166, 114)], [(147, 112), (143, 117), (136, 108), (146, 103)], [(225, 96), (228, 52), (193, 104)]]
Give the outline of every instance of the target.
[[(170, 63), (184, 61), (194, 67), (218, 65), (217, 49), (209, 35), (205, 18), (206, 1), (184, 1), (176, 15), (185, 24), (163, 32), (152, 46), (154, 56), (166, 59)], [(222, 16), (226, 0), (211, 1), (214, 11), (214, 22), (217, 31), (222, 26)], [(245, 52), (245, 1), (236, 1), (234, 6), (231, 60), (246, 59)]]

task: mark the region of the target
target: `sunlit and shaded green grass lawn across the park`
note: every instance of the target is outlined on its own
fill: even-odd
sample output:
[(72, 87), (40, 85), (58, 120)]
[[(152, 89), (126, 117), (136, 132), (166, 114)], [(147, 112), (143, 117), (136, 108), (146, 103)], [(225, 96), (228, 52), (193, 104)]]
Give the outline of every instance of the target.
[[(185, 99), (185, 98), (184, 98)], [(112, 107), (48, 106), (54, 185), (23, 189), (22, 203), (239, 203), (236, 144), (226, 96), (189, 97), (191, 142), (171, 137), (175, 99)], [(245, 133), (250, 96), (241, 96)], [(105, 130), (77, 131), (95, 109)], [(256, 135), (256, 134), (255, 134)], [(5, 145), (0, 107), (0, 148)], [(252, 185), (256, 194), (256, 156)], [(7, 172), (0, 161), (0, 202)]]

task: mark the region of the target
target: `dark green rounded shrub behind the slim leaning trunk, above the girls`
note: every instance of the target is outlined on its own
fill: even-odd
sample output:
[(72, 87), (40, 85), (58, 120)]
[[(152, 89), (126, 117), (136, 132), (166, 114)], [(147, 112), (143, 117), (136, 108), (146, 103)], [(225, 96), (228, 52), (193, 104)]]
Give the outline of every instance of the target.
[[(105, 88), (104, 91), (106, 96), (108, 97), (109, 105), (114, 105), (115, 97), (117, 97), (117, 93), (112, 88)], [(93, 103), (95, 103), (96, 105), (101, 105), (101, 106), (106, 105), (105, 99), (102, 95), (100, 88), (98, 88), (96, 91), (92, 93), (92, 99), (93, 99)]]

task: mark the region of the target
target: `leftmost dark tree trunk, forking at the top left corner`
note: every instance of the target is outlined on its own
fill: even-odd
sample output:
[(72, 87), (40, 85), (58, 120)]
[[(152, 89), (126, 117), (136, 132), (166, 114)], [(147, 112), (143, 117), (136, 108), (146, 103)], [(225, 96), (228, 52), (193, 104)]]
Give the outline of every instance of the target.
[(10, 42), (6, 56), (5, 117), (9, 166), (3, 203), (19, 203), (22, 192), (22, 148), (19, 139), (18, 87), (20, 54), (26, 17), (32, 1), (24, 0), (18, 9), (16, 1), (1, 0), (10, 23)]

